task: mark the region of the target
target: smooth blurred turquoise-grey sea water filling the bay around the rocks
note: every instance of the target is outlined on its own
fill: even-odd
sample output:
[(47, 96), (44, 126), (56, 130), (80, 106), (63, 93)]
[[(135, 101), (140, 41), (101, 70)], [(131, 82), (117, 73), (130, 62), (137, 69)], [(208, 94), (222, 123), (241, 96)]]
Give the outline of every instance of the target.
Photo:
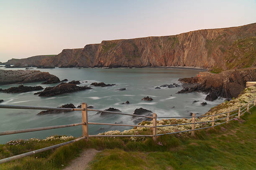
[[(10, 70), (10, 68), (0, 68)], [(25, 70), (25, 68), (12, 68), (11, 70)], [(192, 92), (188, 94), (177, 94), (182, 87), (155, 89), (156, 86), (163, 84), (178, 83), (182, 77), (192, 77), (198, 74), (199, 70), (181, 70), (168, 68), (54, 68), (54, 69), (36, 69), (50, 72), (63, 80), (80, 80), (82, 85), (90, 85), (92, 82), (105, 82), (106, 84), (116, 84), (111, 87), (93, 87), (92, 90), (56, 95), (52, 97), (39, 97), (33, 95), (35, 92), (6, 94), (0, 93), (0, 99), (4, 102), (1, 104), (8, 105), (32, 105), (32, 106), (49, 106), (59, 107), (67, 103), (73, 103), (75, 106), (86, 102), (95, 109), (104, 110), (114, 107), (125, 113), (133, 114), (136, 108), (143, 107), (155, 112), (158, 116), (189, 116), (189, 112), (199, 113), (207, 112), (210, 107), (220, 104), (223, 98), (213, 102), (205, 101), (207, 94)], [(87, 81), (87, 82), (86, 82)], [(42, 87), (55, 86), (57, 84), (44, 85), (41, 82), (27, 83), (24, 85)], [(5, 89), (13, 85), (2, 85), (0, 88)], [(125, 87), (126, 90), (118, 91), (116, 89)], [(152, 97), (153, 101), (143, 101), (143, 97)], [(130, 104), (122, 105), (122, 102), (128, 100)], [(200, 100), (192, 104), (194, 100)], [(201, 102), (207, 102), (206, 106), (201, 106)], [(82, 122), (81, 111), (65, 112), (51, 115), (36, 115), (41, 110), (21, 110), (21, 109), (1, 109), (0, 108), (0, 131), (18, 130), (26, 128), (37, 128), (52, 125), (64, 125)], [(96, 115), (96, 112), (89, 112), (90, 122), (107, 122), (134, 124), (131, 116), (125, 115), (108, 115), (105, 117)], [(127, 130), (131, 127), (90, 125), (89, 133), (98, 134), (108, 130)], [(82, 127), (70, 127), (54, 130), (44, 130), (30, 133), (20, 133), (15, 135), (0, 136), (0, 143), (8, 140), (27, 139), (27, 138), (45, 138), (51, 135), (73, 135), (79, 137), (82, 135)]]

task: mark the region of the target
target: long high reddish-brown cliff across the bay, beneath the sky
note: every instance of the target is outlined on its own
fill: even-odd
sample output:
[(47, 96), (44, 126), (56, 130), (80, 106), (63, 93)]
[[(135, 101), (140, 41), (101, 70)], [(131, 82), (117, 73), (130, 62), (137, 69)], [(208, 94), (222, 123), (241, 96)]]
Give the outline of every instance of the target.
[(171, 36), (109, 40), (84, 48), (64, 49), (56, 56), (38, 60), (38, 66), (192, 66), (219, 72), (233, 67), (256, 66), (255, 36), (256, 23), (253, 23)]

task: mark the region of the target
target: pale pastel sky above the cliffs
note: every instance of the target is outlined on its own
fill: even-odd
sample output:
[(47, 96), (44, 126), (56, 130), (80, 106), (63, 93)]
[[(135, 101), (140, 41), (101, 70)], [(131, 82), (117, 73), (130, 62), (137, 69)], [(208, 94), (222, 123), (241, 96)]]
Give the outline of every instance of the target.
[(256, 0), (0, 0), (0, 62), (256, 23)]

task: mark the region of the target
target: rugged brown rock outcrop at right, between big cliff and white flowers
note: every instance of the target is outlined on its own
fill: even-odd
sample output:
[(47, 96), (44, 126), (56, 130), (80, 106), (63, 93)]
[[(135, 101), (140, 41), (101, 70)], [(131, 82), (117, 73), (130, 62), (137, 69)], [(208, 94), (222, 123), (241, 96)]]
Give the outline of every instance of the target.
[(200, 72), (196, 77), (179, 79), (186, 84), (178, 93), (198, 91), (215, 93), (225, 98), (238, 97), (246, 87), (246, 82), (255, 80), (256, 67), (227, 70), (218, 74)]

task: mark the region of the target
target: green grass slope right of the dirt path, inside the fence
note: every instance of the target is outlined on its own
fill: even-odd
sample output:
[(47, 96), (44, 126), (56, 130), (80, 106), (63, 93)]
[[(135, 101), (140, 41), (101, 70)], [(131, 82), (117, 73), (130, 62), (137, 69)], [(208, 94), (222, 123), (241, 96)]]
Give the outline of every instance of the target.
[[(195, 138), (164, 135), (152, 143), (133, 143), (131, 148), (105, 149), (92, 161), (100, 170), (253, 170), (256, 169), (256, 108), (241, 120), (198, 130)], [(157, 148), (154, 149), (154, 147)]]

